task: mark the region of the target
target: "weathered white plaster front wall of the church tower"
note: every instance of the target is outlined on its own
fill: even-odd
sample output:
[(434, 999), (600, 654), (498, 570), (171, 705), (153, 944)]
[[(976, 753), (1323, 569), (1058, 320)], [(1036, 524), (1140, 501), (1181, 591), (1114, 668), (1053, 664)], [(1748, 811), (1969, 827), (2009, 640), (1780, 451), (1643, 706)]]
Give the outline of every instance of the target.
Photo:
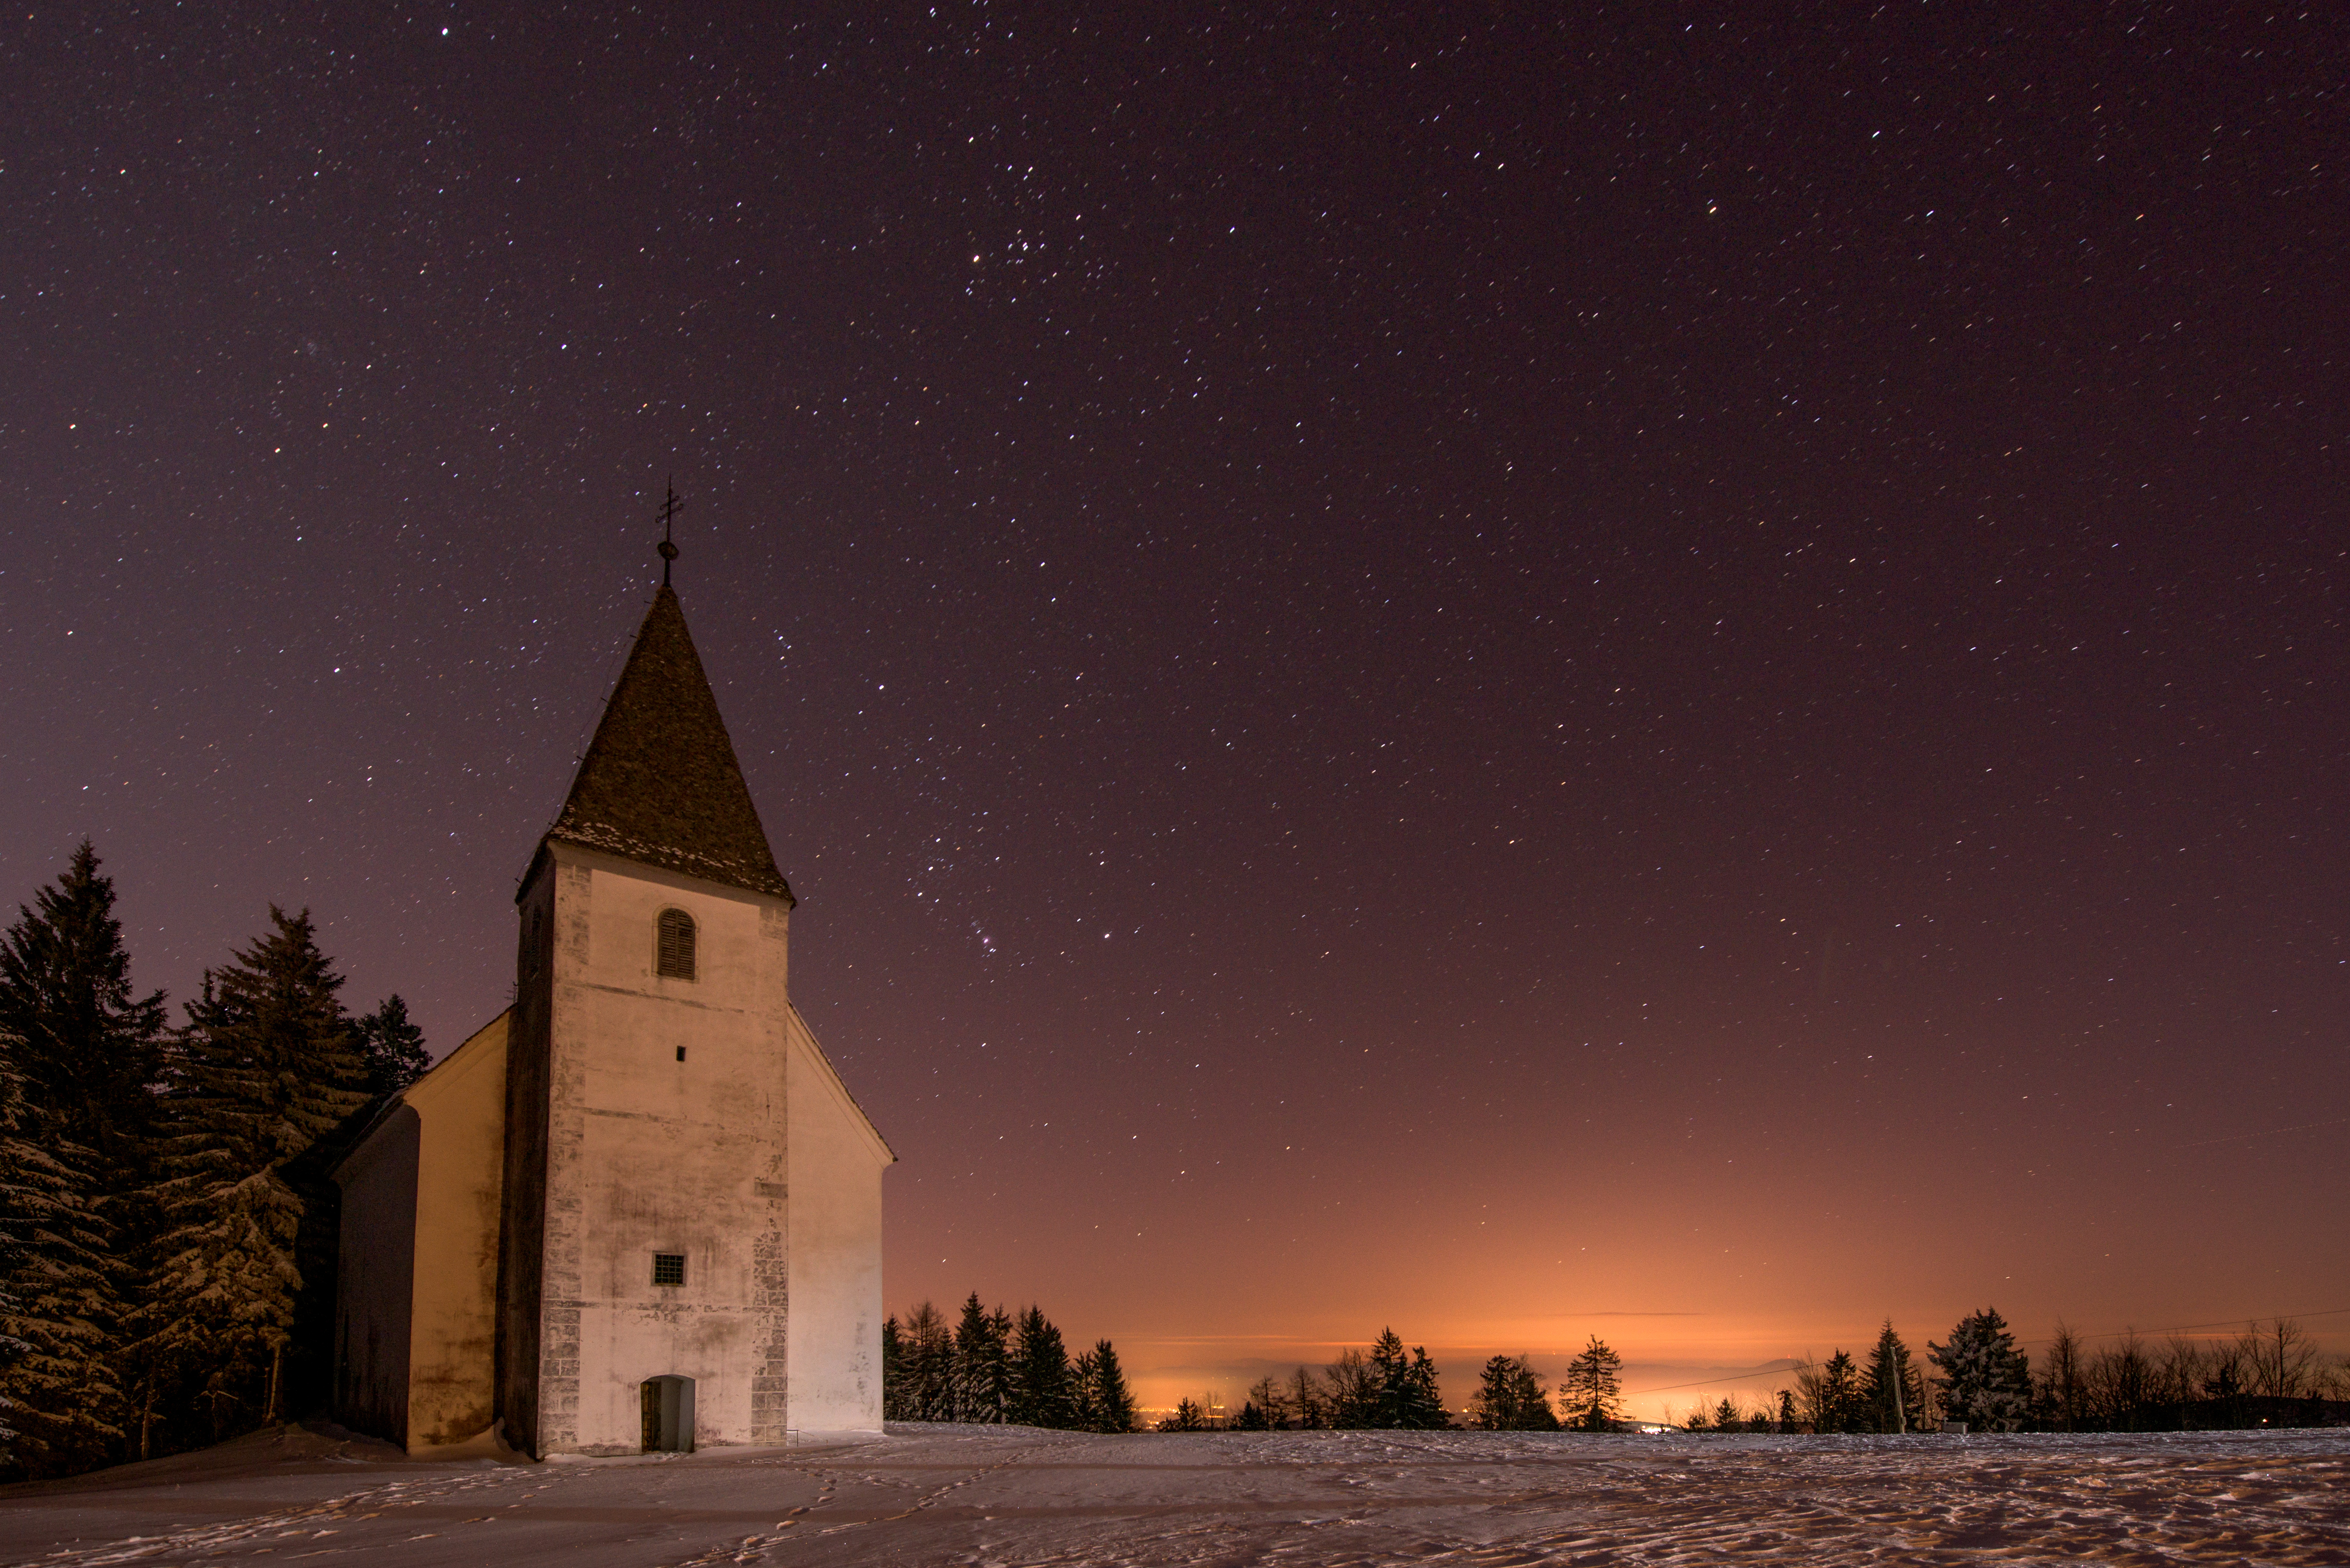
[[(693, 1378), (698, 1446), (780, 1443), (790, 907), (550, 851), (540, 1453), (637, 1453), (658, 1375)], [(693, 980), (653, 973), (670, 907), (696, 922)], [(651, 1284), (653, 1253), (684, 1253), (686, 1284)]]

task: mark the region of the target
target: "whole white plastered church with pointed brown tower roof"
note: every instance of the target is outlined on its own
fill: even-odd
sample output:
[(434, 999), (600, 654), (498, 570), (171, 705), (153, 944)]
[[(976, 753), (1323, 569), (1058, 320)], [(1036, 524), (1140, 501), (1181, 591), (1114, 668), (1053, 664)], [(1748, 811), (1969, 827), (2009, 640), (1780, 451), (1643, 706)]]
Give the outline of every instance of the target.
[[(663, 545), (674, 557), (672, 545)], [(895, 1161), (663, 585), (515, 896), (515, 1004), (336, 1166), (336, 1420), (536, 1458), (881, 1429)]]

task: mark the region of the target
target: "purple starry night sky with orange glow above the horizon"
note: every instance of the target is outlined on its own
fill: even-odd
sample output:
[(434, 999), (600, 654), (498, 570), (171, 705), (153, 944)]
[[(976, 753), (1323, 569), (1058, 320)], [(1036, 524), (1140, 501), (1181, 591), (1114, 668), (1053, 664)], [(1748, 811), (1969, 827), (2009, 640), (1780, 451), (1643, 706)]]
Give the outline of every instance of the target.
[(2350, 24), (1499, 9), (31, 9), (0, 900), (446, 1051), (674, 475), (893, 1307), (2350, 1309)]

